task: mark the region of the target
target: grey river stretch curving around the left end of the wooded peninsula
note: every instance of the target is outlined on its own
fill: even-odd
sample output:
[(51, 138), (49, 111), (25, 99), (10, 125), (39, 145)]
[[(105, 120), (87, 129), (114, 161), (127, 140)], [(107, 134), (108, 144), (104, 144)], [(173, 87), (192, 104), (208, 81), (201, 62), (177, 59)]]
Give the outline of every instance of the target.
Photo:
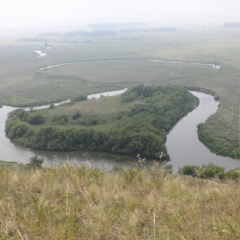
[[(127, 88), (118, 91), (111, 92), (103, 92), (97, 94), (91, 94), (88, 96), (88, 99), (99, 98), (101, 96), (114, 96), (119, 95), (125, 92)], [(69, 102), (70, 100), (63, 101), (61, 103), (54, 104), (58, 106), (65, 102)], [(34, 107), (33, 109), (44, 109), (48, 108), (50, 105), (44, 105), (39, 107)], [(75, 164), (85, 163), (89, 166), (112, 169), (114, 166), (124, 166), (129, 167), (130, 164), (126, 160), (122, 161), (113, 161), (109, 159), (104, 159), (101, 155), (102, 153), (85, 153), (81, 151), (44, 151), (44, 150), (33, 150), (27, 149), (24, 147), (17, 146), (13, 144), (9, 138), (5, 135), (5, 122), (7, 120), (8, 114), (17, 108), (10, 106), (2, 106), (0, 108), (0, 160), (10, 162), (18, 162), (18, 163), (28, 163), (30, 157), (37, 154), (39, 157), (44, 158), (44, 166), (50, 167), (53, 164), (59, 164), (66, 161)], [(30, 110), (30, 108), (25, 108), (25, 110)]]

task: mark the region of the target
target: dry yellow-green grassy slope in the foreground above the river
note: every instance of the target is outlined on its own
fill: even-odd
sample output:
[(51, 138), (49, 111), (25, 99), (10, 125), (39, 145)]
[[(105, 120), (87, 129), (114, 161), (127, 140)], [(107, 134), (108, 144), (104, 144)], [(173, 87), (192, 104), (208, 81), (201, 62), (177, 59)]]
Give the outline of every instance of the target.
[(239, 182), (0, 166), (1, 239), (240, 239)]

